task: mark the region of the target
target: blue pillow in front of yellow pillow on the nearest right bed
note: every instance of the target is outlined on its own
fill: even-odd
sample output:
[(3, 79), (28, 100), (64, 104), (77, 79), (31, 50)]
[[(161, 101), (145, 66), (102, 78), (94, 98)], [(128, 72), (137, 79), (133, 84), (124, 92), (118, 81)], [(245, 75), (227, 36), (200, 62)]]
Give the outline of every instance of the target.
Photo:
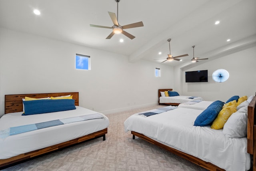
[(222, 101), (214, 101), (214, 104), (209, 105), (194, 121), (194, 126), (206, 126), (210, 125), (217, 115), (220, 113), (224, 102)]

